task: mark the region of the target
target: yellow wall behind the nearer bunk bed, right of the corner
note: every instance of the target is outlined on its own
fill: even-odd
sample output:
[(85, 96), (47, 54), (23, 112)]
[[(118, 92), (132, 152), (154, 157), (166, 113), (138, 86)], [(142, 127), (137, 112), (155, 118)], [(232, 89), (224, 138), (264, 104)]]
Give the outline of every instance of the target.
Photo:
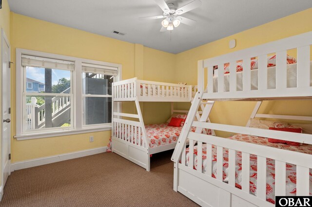
[[(197, 61), (264, 44), (281, 38), (312, 31), (312, 8), (283, 17), (252, 29), (216, 40), (192, 50), (176, 54), (176, 82), (197, 83)], [(236, 47), (229, 49), (231, 39)], [(291, 55), (294, 55), (292, 52)], [(246, 125), (254, 102), (217, 102), (211, 112), (211, 121), (232, 125)], [(312, 116), (312, 101), (266, 102), (260, 112)], [(229, 133), (218, 133), (227, 137)]]

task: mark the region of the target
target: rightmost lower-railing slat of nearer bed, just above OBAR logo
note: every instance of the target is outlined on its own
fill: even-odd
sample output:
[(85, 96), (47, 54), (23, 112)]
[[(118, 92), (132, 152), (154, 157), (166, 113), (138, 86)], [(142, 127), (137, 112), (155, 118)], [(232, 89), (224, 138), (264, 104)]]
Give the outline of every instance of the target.
[(296, 180), (297, 180), (297, 196), (303, 195), (308, 196), (309, 195), (309, 168), (305, 168), (302, 166), (297, 165), (297, 172), (296, 172)]

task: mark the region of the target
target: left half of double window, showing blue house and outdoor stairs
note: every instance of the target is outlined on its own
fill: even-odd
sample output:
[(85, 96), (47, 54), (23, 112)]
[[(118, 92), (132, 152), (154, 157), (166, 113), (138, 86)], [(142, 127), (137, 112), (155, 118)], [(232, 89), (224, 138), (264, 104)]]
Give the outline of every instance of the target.
[(71, 127), (74, 63), (23, 55), (22, 66), (26, 70), (24, 130)]

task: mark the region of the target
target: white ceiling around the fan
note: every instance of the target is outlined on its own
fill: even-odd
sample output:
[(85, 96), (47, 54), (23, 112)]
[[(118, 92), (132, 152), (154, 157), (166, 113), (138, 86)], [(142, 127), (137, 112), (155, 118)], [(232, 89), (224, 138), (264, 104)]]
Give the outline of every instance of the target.
[[(312, 7), (312, 0), (201, 0), (182, 16), (194, 19), (172, 33), (159, 32), (154, 0), (8, 0), (11, 11), (160, 51), (178, 53)], [(166, 0), (181, 7), (193, 0)], [(291, 26), (291, 25), (290, 25)], [(116, 35), (113, 31), (125, 33)], [(281, 31), (283, 32), (283, 31)]]

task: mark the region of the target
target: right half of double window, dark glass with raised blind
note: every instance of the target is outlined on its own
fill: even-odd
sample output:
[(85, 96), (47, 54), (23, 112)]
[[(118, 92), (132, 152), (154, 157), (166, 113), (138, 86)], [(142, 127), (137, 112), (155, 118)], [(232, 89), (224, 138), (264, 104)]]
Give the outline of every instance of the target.
[(112, 122), (112, 83), (115, 75), (116, 68), (83, 64), (83, 125)]

